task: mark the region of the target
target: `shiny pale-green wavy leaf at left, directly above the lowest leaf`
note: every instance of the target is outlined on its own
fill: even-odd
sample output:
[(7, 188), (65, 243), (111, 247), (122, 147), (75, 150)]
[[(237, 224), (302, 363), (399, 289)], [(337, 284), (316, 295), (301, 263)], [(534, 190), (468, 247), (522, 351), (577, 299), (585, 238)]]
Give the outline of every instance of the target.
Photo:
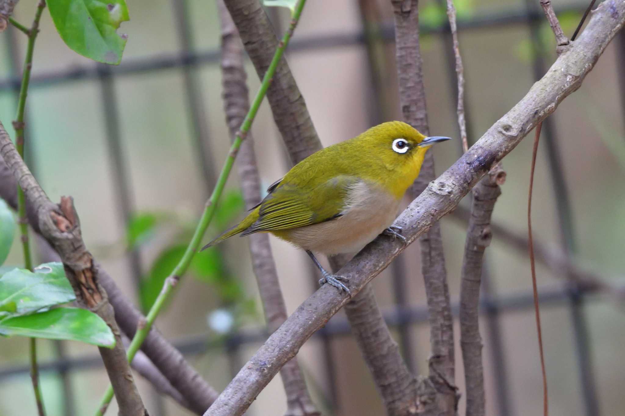
[(24, 315), (76, 299), (63, 263), (44, 263), (35, 273), (12, 269), (0, 278), (0, 311)]

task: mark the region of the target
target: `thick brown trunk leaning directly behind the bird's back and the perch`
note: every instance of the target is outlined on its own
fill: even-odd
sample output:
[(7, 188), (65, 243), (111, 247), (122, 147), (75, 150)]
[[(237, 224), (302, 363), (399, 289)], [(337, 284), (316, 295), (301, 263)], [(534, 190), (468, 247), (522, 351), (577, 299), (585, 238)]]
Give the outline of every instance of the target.
[[(271, 22), (257, 0), (225, 0), (224, 3), (236, 24), (247, 55), (252, 60), (258, 75), (262, 77), (269, 62), (267, 51), (271, 51), (277, 43)], [(321, 140), (312, 125), (306, 103), (286, 59), (281, 61), (276, 74), (280, 75), (267, 90), (267, 99), (291, 162), (297, 163), (317, 150), (321, 150)], [(340, 268), (346, 261), (345, 256), (334, 256), (330, 259), (334, 270)], [(369, 312), (371, 316), (361, 319)], [(364, 360), (372, 372), (374, 382), (382, 394), (387, 411), (391, 415), (402, 414), (401, 409), (408, 404), (407, 401), (404, 401), (405, 406), (399, 404), (397, 397), (404, 396), (406, 384), (412, 385), (412, 382), (407, 382), (412, 376), (382, 318), (372, 289), (366, 289), (366, 293), (363, 294), (355, 294), (346, 307), (346, 315)], [(377, 318), (374, 319), (374, 317)], [(377, 351), (374, 351), (373, 346), (379, 347)], [(391, 375), (396, 378), (389, 384)]]

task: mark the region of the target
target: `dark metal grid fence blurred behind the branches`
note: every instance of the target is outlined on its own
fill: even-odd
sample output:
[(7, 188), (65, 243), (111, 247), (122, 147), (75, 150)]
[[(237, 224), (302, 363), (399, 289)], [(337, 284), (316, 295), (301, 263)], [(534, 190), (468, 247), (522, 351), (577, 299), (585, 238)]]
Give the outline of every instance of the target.
[[(174, 12), (174, 21), (176, 31), (179, 37), (179, 54), (166, 54), (159, 56), (149, 56), (139, 59), (128, 59), (119, 65), (119, 67), (109, 67), (106, 65), (84, 65), (83, 67), (73, 67), (71, 69), (59, 70), (54, 72), (36, 73), (31, 79), (31, 88), (41, 89), (51, 85), (66, 84), (69, 82), (84, 82), (86, 80), (98, 79), (101, 85), (101, 100), (104, 109), (105, 128), (108, 139), (109, 162), (111, 170), (113, 170), (114, 189), (116, 190), (116, 205), (119, 212), (123, 215), (124, 221), (128, 221), (133, 212), (132, 191), (130, 189), (130, 179), (126, 161), (124, 160), (122, 132), (119, 127), (117, 99), (112, 87), (116, 77), (142, 74), (144, 72), (153, 72), (166, 69), (179, 69), (183, 74), (184, 92), (187, 99), (187, 107), (189, 107), (189, 124), (191, 132), (194, 135), (194, 145), (199, 158), (199, 165), (202, 171), (202, 177), (206, 189), (212, 188), (214, 183), (214, 172), (206, 143), (209, 143), (208, 129), (206, 126), (206, 105), (203, 102), (199, 90), (199, 80), (196, 77), (194, 69), (202, 65), (214, 64), (219, 59), (219, 51), (195, 51), (193, 47), (192, 34), (189, 31), (187, 19), (187, 2), (172, 0)], [(537, 36), (537, 25), (544, 19), (542, 13), (539, 12), (537, 4), (533, 0), (526, 0), (524, 9), (496, 12), (486, 14), (484, 16), (473, 17), (471, 19), (458, 21), (459, 31), (468, 31), (471, 29), (494, 28), (507, 25), (524, 24), (529, 29), (532, 46), (536, 51), (542, 48), (541, 39)], [(556, 12), (581, 12), (586, 9), (586, 4), (577, 4), (576, 6), (567, 6), (556, 9)], [(364, 16), (362, 16), (363, 23)], [(329, 34), (322, 36), (314, 36), (303, 39), (296, 39), (289, 46), (289, 53), (296, 54), (298, 52), (306, 52), (310, 49), (327, 49), (333, 47), (346, 46), (364, 46), (369, 49), (372, 41), (393, 42), (394, 31), (392, 26), (381, 26), (377, 28), (376, 37), (372, 39), (367, 32), (359, 32), (352, 34)], [(423, 26), (423, 33), (439, 33), (444, 36), (446, 44), (451, 44), (449, 36), (449, 26), (443, 25), (438, 27)], [(21, 77), (19, 77), (19, 51), (17, 51), (14, 34), (8, 31), (5, 36), (9, 51), (11, 52), (11, 75), (10, 77), (0, 80), (0, 93), (12, 92), (17, 97)], [(625, 34), (619, 34), (619, 56), (617, 62), (625, 64)], [(621, 50), (622, 49), (622, 50)], [(451, 47), (449, 47), (451, 51)], [(371, 63), (372, 61), (369, 60)], [(455, 79), (455, 67), (452, 55), (447, 56), (447, 70), (449, 79), (454, 89), (457, 88)], [(370, 65), (372, 85), (376, 85), (373, 65)], [(539, 79), (545, 70), (545, 64), (541, 54), (534, 54), (534, 77)], [(625, 112), (625, 83), (619, 84), (622, 108)], [(375, 93), (374, 93), (375, 94)], [(452, 102), (455, 102), (455, 97)], [(455, 110), (455, 109), (454, 109)], [(381, 110), (372, 108), (369, 111), (371, 124), (381, 121)], [(467, 126), (469, 127), (469, 135), (476, 137), (476, 132), (471, 131), (471, 118), (466, 114)], [(27, 129), (28, 131), (28, 129)], [(549, 168), (553, 181), (553, 188), (557, 191), (557, 210), (559, 213), (560, 232), (562, 236), (562, 248), (567, 254), (574, 254), (575, 237), (572, 225), (571, 205), (567, 195), (566, 181), (559, 160), (559, 152), (557, 152), (557, 134), (554, 125), (549, 119), (544, 122), (544, 131), (546, 140), (547, 158), (549, 160)], [(31, 165), (31, 169), (36, 170), (36, 163), (32, 159), (32, 152), (27, 154), (27, 160)], [(399, 331), (399, 341), (402, 345), (402, 353), (406, 357), (407, 364), (412, 370), (416, 370), (414, 362), (414, 348), (410, 344), (409, 331), (415, 324), (427, 322), (427, 307), (409, 307), (406, 299), (403, 297), (405, 292), (405, 273), (401, 262), (395, 262), (393, 266), (393, 287), (396, 297), (396, 305), (391, 309), (384, 311), (384, 317), (389, 326)], [(141, 261), (138, 251), (133, 251), (128, 258), (128, 266), (133, 276), (134, 283), (139, 283), (141, 276)], [(311, 275), (314, 269), (311, 269)], [(316, 279), (315, 279), (316, 280)], [(138, 287), (138, 286), (137, 286)], [(584, 318), (582, 307), (589, 296), (583, 288), (574, 285), (557, 286), (556, 288), (542, 289), (540, 301), (543, 307), (567, 307), (571, 312), (571, 321), (573, 327), (574, 343), (576, 345), (577, 365), (579, 369), (579, 384), (583, 392), (583, 404), (585, 414), (587, 416), (599, 416), (599, 404), (596, 396), (596, 386), (594, 382), (594, 371), (592, 367), (591, 354), (589, 345), (587, 344), (587, 323)], [(489, 336), (486, 339), (490, 343), (492, 351), (493, 374), (496, 380), (496, 401), (500, 415), (511, 416), (513, 414), (509, 400), (511, 399), (511, 390), (509, 389), (509, 380), (506, 374), (506, 360), (504, 358), (505, 351), (502, 347), (502, 337), (499, 329), (499, 318), (502, 314), (531, 309), (533, 299), (531, 292), (501, 296), (494, 293), (491, 288), (487, 264), (484, 265), (484, 276), (482, 279), (482, 297), (480, 301), (480, 311), (483, 316), (487, 317), (486, 331)], [(454, 316), (457, 316), (458, 305), (453, 304), (452, 309)], [(483, 329), (482, 329), (483, 331)], [(332, 360), (330, 342), (332, 337), (344, 336), (350, 333), (349, 324), (344, 318), (334, 318), (328, 324), (317, 331), (315, 338), (322, 340), (323, 351), (325, 356), (325, 367), (327, 369), (327, 383), (334, 386), (336, 383), (335, 366)], [(266, 339), (265, 331), (241, 331), (227, 336), (225, 342), (208, 342), (206, 336), (197, 336), (185, 341), (174, 341), (176, 347), (187, 356), (202, 354), (211, 349), (227, 350), (229, 357), (229, 367), (236, 374), (241, 363), (238, 358), (241, 346), (251, 343), (262, 342)], [(64, 414), (74, 415), (74, 392), (69, 382), (69, 375), (72, 371), (88, 370), (101, 367), (101, 360), (98, 356), (89, 356), (82, 358), (69, 359), (64, 352), (62, 342), (56, 342), (57, 359), (53, 362), (47, 362), (40, 365), (42, 372), (54, 372), (61, 376), (63, 380), (64, 391)], [(9, 377), (19, 374), (27, 374), (29, 367), (27, 365), (17, 365), (15, 367), (0, 369), (0, 382), (6, 382)], [(233, 375), (234, 375), (233, 374)], [(330, 389), (334, 391), (334, 389)], [(332, 407), (336, 407), (336, 397), (329, 397)], [(157, 405), (156, 412), (164, 415), (164, 407), (162, 403)]]

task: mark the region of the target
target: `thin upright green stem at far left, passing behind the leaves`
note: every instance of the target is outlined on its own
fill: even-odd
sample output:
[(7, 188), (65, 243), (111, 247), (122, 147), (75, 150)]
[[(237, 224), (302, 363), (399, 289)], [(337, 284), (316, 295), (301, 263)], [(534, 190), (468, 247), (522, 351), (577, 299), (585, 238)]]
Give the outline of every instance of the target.
[[(28, 36), (28, 45), (26, 47), (26, 58), (24, 59), (24, 72), (22, 74), (22, 84), (19, 89), (19, 99), (17, 100), (17, 116), (13, 122), (13, 127), (16, 133), (16, 148), (17, 153), (24, 158), (24, 109), (26, 109), (26, 96), (28, 95), (28, 84), (31, 79), (32, 69), (32, 52), (34, 51), (35, 39), (39, 32), (39, 20), (46, 2), (41, 0), (37, 4), (37, 11), (32, 21), (30, 29), (17, 23), (13, 19), (9, 19), (11, 24), (20, 31), (24, 32)], [(26, 220), (26, 197), (24, 191), (17, 185), (17, 215), (19, 218), (19, 231), (22, 240), (22, 250), (24, 251), (24, 268), (32, 271), (32, 258), (31, 249), (28, 242), (28, 223)], [(30, 342), (30, 356), (31, 356), (31, 379), (32, 389), (35, 393), (35, 400), (37, 402), (37, 410), (39, 416), (45, 416), (46, 410), (43, 407), (43, 399), (41, 394), (41, 386), (39, 385), (39, 370), (37, 369), (37, 340), (31, 338)]]

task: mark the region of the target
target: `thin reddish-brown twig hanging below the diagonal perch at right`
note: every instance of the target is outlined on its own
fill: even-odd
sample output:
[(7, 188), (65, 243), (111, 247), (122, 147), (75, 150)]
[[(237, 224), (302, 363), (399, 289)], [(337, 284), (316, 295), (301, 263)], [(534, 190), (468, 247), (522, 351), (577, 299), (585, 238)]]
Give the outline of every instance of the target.
[(538, 153), (538, 140), (541, 137), (542, 122), (536, 126), (534, 137), (534, 149), (532, 150), (532, 167), (529, 173), (529, 195), (527, 196), (527, 245), (529, 248), (529, 265), (532, 271), (532, 291), (534, 293), (534, 311), (536, 312), (536, 331), (538, 334), (538, 351), (541, 356), (542, 372), (542, 411), (544, 416), (549, 415), (549, 401), (547, 397), (547, 372), (545, 370), (545, 358), (542, 351), (541, 312), (538, 301), (538, 288), (536, 284), (536, 264), (534, 262), (534, 242), (532, 241), (532, 188), (534, 185), (534, 167), (536, 166), (536, 153)]

